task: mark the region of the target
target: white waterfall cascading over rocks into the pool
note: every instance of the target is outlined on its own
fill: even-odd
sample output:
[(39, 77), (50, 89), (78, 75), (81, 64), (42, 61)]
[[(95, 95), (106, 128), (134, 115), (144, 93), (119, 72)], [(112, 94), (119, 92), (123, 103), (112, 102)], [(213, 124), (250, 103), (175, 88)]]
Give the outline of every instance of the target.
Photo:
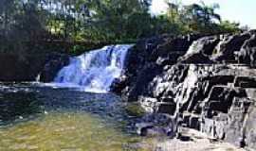
[(107, 92), (120, 76), (130, 44), (109, 45), (70, 60), (55, 77), (59, 85), (80, 86), (85, 92)]

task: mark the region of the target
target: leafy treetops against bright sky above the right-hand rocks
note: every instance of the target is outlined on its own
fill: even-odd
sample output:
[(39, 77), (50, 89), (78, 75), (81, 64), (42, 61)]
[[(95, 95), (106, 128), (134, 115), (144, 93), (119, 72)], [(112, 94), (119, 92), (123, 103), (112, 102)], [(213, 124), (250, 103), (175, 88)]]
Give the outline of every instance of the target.
[(176, 31), (181, 33), (216, 34), (222, 32), (237, 32), (239, 25), (222, 22), (221, 16), (215, 12), (218, 4), (207, 6), (204, 2), (183, 6), (179, 3), (168, 3), (165, 14), (169, 25), (178, 26)]

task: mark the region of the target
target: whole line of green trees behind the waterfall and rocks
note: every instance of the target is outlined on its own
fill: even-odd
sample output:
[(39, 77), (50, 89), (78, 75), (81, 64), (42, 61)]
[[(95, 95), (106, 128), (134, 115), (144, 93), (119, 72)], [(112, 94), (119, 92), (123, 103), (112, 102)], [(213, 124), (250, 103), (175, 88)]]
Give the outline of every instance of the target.
[(167, 12), (153, 15), (151, 3), (151, 0), (0, 0), (0, 51), (23, 54), (47, 49), (78, 53), (96, 47), (97, 43), (136, 42), (164, 33), (176, 36), (241, 30), (239, 24), (221, 20), (215, 12), (217, 4), (184, 6), (166, 1)]

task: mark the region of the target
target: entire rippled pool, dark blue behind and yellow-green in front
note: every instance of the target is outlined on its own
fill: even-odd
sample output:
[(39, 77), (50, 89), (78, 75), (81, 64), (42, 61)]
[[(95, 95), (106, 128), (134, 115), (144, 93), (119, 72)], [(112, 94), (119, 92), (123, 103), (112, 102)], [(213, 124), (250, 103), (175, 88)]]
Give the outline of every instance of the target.
[(0, 90), (0, 107), (0, 151), (153, 148), (149, 139), (125, 130), (131, 119), (113, 94), (11, 86)]

